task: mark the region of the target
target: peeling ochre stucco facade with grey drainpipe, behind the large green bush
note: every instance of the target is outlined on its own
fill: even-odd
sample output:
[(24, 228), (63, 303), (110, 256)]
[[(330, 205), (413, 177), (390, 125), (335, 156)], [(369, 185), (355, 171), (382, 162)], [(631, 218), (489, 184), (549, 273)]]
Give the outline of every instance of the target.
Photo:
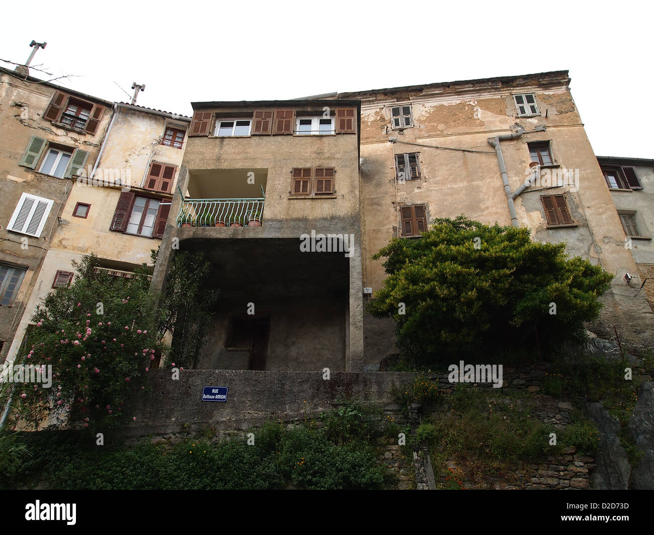
[[(631, 251), (624, 246), (620, 219), (569, 83), (567, 71), (559, 71), (340, 93), (339, 98), (362, 101), (364, 286), (373, 291), (381, 286), (385, 278), (381, 262), (370, 257), (392, 236), (404, 234), (403, 208), (424, 206), (426, 224), (459, 214), (483, 223), (511, 224), (498, 158), (489, 138), (513, 133), (514, 139), (500, 142), (512, 192), (532, 176), (530, 163), (538, 157), (537, 151), (547, 150), (541, 155), (538, 180), (515, 197), (517, 223), (530, 227), (535, 240), (564, 241), (570, 255), (589, 259), (615, 275), (610, 293), (602, 298), (602, 320), (594, 329), (610, 336), (617, 325), (621, 336), (632, 343), (651, 342), (651, 310), (640, 299), (644, 296), (632, 299), (625, 291), (625, 273), (634, 274), (634, 286), (640, 285), (640, 276)], [(528, 107), (531, 95), (533, 108)], [(530, 100), (525, 102), (525, 98)], [(524, 105), (521, 110), (519, 104)], [(412, 159), (405, 160), (404, 154)], [(398, 176), (398, 157), (406, 162), (404, 177)], [(411, 167), (415, 161), (417, 173)], [(409, 176), (409, 170), (419, 176)], [(567, 209), (568, 215), (557, 213), (565, 219), (548, 219), (543, 195), (564, 199), (557, 202), (564, 203), (562, 212)], [(413, 219), (414, 226), (417, 219)], [(366, 362), (379, 362), (394, 352), (392, 322), (369, 316), (365, 321)]]

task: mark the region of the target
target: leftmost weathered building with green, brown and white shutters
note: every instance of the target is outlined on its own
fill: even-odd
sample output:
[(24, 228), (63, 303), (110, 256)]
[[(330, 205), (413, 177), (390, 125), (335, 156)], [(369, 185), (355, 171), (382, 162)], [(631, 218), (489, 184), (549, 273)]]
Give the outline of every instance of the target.
[(111, 103), (21, 72), (0, 67), (0, 361), (15, 356), (75, 178), (95, 164), (111, 118)]

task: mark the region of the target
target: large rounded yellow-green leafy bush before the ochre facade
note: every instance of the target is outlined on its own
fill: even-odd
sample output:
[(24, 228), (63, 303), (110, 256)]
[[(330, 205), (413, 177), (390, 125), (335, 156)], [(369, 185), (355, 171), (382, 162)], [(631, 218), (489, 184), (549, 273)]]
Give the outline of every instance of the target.
[(436, 219), (420, 238), (393, 238), (373, 255), (388, 276), (368, 304), (392, 317), (398, 346), (423, 363), (583, 338), (612, 275), (530, 229)]

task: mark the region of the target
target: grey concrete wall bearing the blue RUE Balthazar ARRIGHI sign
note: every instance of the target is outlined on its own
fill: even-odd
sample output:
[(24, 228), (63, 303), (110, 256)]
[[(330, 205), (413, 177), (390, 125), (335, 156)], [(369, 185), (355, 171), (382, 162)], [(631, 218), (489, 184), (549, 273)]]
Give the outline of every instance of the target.
[[(143, 393), (136, 421), (120, 434), (130, 437), (179, 432), (211, 426), (216, 430), (248, 429), (268, 419), (312, 417), (338, 405), (341, 398), (387, 406), (395, 402), (392, 387), (415, 377), (406, 372), (332, 373), (262, 372), (253, 370), (153, 370), (152, 391)], [(205, 386), (228, 387), (226, 402), (202, 400)]]

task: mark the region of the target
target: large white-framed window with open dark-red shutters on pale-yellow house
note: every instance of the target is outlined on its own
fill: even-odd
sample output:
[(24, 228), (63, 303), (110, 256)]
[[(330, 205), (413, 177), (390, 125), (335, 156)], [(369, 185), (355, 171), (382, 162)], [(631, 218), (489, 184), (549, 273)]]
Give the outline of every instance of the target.
[(126, 234), (162, 238), (171, 204), (160, 197), (120, 193), (109, 230)]

